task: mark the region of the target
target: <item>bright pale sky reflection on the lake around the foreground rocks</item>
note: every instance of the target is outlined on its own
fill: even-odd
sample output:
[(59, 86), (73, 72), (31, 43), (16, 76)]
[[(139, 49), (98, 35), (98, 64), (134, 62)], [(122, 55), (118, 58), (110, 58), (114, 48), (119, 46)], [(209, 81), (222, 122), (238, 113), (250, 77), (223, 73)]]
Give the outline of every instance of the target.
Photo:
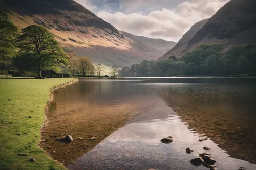
[[(200, 153), (210, 153), (217, 160), (218, 169), (255, 169), (256, 165), (229, 157), (211, 140), (204, 143), (204, 135), (190, 131), (179, 116), (164, 101), (156, 100), (157, 109), (168, 118), (136, 122), (125, 125), (104, 139), (93, 150), (68, 166), (69, 169), (194, 169), (190, 160)], [(156, 108), (157, 107), (157, 108)], [(195, 136), (195, 134), (197, 134)], [(163, 144), (160, 139), (172, 135), (172, 144)], [(203, 146), (211, 148), (203, 150)], [(190, 155), (187, 147), (194, 149)], [(197, 169), (205, 169), (203, 166)]]

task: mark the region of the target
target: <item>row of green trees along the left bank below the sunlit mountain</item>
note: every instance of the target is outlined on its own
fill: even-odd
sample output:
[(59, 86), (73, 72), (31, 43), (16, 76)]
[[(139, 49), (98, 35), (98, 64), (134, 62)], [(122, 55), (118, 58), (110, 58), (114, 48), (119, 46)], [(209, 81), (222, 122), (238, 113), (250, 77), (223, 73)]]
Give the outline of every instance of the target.
[(87, 57), (68, 57), (53, 35), (42, 26), (28, 26), (19, 33), (8, 14), (0, 10), (0, 67), (11, 65), (19, 71), (42, 70), (60, 72), (68, 68), (73, 75), (100, 75), (101, 65), (96, 68)]

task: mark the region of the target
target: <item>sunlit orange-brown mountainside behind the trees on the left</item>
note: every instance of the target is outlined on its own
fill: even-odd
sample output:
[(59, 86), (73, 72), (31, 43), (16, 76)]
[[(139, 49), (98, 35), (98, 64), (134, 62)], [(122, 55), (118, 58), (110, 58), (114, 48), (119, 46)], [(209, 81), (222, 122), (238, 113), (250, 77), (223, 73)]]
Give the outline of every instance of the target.
[(0, 7), (19, 29), (44, 26), (69, 55), (86, 56), (93, 63), (130, 66), (163, 55), (150, 45), (125, 38), (73, 0), (0, 0)]

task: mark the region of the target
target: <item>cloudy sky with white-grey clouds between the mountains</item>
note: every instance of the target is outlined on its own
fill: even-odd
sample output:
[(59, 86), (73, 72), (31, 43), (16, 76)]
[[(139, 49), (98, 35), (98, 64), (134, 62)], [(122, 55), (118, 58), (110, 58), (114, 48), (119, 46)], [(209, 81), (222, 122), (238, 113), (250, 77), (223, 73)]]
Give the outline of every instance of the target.
[(75, 0), (118, 30), (178, 41), (229, 0)]

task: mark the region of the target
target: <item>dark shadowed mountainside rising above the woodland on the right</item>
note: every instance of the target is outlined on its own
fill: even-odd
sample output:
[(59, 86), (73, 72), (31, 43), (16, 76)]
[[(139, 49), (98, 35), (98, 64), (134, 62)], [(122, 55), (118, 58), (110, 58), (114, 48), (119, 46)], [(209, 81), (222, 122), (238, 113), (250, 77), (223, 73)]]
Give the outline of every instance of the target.
[(183, 47), (178, 48), (178, 42), (159, 59), (167, 59), (171, 55), (180, 57), (200, 44), (224, 43), (225, 50), (236, 44), (256, 44), (255, 7), (254, 0), (229, 1), (203, 24), (193, 37), (188, 38)]

